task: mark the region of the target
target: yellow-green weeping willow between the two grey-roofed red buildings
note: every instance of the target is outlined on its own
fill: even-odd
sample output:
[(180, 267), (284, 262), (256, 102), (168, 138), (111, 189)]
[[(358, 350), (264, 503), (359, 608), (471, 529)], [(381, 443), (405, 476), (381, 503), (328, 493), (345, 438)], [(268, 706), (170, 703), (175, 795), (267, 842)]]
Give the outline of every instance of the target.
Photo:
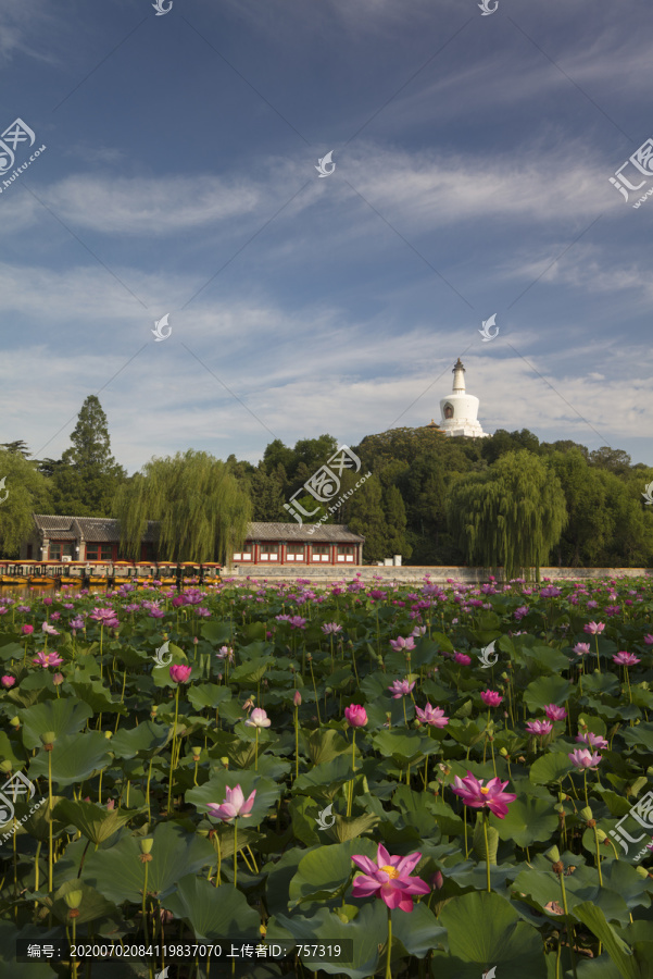
[(140, 557), (148, 521), (155, 520), (159, 557), (167, 561), (226, 562), (244, 542), (251, 509), (229, 464), (194, 449), (151, 459), (114, 501), (123, 553)]

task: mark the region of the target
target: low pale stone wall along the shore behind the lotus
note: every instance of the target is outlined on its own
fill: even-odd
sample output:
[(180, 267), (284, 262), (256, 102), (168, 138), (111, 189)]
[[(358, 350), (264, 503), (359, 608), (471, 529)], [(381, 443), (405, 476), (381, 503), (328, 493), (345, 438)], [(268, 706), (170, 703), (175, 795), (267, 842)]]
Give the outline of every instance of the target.
[[(225, 568), (222, 572), (223, 578), (237, 579), (255, 579), (258, 581), (296, 581), (298, 578), (310, 580), (315, 584), (319, 582), (332, 581), (351, 581), (360, 575), (362, 581), (382, 581), (384, 583), (398, 582), (406, 584), (410, 582), (422, 582), (426, 575), (435, 584), (445, 584), (448, 579), (455, 582), (464, 582), (465, 584), (482, 584), (490, 577), (487, 568), (466, 568), (451, 567), (443, 568), (440, 566), (403, 566), (403, 567), (379, 567), (377, 565), (360, 565), (357, 567), (343, 568), (340, 567), (239, 567)], [(497, 580), (503, 581), (501, 569), (497, 572)], [(551, 581), (590, 581), (599, 578), (653, 578), (653, 568), (540, 568), (540, 580), (544, 578)]]

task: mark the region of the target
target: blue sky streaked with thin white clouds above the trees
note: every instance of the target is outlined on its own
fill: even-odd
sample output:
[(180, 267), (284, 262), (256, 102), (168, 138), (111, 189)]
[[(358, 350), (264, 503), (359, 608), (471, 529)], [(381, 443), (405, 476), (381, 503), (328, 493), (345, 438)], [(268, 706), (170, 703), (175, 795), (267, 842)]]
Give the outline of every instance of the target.
[(630, 0), (3, 0), (0, 441), (59, 457), (99, 394), (130, 472), (355, 444), (438, 420), (460, 356), (486, 431), (653, 464), (653, 173), (610, 183), (652, 36)]

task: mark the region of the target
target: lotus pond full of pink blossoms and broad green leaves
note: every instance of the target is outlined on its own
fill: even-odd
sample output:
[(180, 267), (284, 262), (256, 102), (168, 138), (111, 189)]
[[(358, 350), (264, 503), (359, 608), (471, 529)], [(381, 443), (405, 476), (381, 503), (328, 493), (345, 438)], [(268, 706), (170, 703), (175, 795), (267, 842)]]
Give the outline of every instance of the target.
[[(0, 976), (653, 977), (652, 608), (650, 580), (1, 598)], [(221, 941), (254, 951), (192, 951)]]

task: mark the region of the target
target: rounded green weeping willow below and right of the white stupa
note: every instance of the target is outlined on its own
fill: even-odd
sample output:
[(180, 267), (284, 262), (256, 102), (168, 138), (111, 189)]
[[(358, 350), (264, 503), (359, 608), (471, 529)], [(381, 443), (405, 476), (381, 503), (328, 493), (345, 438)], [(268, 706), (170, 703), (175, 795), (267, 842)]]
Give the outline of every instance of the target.
[(503, 566), (540, 579), (543, 565), (567, 522), (565, 495), (547, 460), (529, 451), (506, 453), (484, 473), (452, 486), (448, 517), (470, 563)]

